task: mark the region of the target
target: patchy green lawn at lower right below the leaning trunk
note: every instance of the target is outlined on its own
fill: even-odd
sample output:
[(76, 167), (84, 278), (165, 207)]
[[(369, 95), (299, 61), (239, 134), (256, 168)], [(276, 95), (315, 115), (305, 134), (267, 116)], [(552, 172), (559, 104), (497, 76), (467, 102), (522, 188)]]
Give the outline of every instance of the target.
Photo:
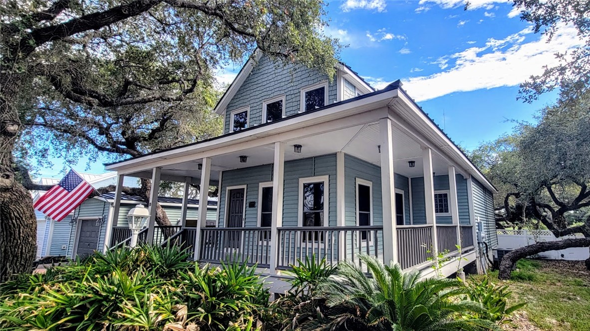
[(542, 330), (590, 331), (590, 273), (583, 262), (522, 260), (512, 275), (507, 282), (514, 293), (512, 303), (528, 302), (523, 310), (533, 325)]

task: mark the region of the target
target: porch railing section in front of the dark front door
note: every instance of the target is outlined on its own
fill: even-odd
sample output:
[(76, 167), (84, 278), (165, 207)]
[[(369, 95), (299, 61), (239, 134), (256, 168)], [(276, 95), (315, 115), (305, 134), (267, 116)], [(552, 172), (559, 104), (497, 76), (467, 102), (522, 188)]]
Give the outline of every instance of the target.
[(270, 266), (270, 227), (201, 229), (199, 260), (239, 260), (261, 267)]

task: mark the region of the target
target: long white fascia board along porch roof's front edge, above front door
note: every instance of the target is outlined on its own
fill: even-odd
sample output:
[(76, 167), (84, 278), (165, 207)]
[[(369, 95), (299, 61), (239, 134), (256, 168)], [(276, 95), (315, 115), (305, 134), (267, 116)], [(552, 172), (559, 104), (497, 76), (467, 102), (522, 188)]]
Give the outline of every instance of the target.
[[(287, 137), (287, 134), (292, 133), (291, 135), (297, 137), (305, 135), (310, 132), (311, 125), (335, 125), (337, 120), (344, 120), (345, 117), (386, 107), (397, 95), (398, 90), (389, 90), (360, 98), (359, 100), (346, 100), (342, 101), (342, 104), (329, 105), (329, 108), (324, 110), (314, 111), (309, 114), (294, 115), (281, 121), (258, 125), (248, 130), (238, 131), (237, 133), (222, 135), (202, 143), (190, 144), (172, 150), (131, 158), (116, 164), (108, 164), (104, 168), (106, 170), (117, 171), (121, 174), (130, 174), (152, 167), (162, 167), (185, 161), (181, 160), (181, 158), (186, 157), (186, 155), (190, 155), (190, 160), (196, 160), (202, 157), (231, 153), (230, 149), (247, 148), (238, 145), (241, 143), (248, 144), (249, 146), (268, 143), (263, 138), (272, 138), (273, 141), (289, 140), (290, 138)], [(222, 148), (226, 150), (222, 150)]]

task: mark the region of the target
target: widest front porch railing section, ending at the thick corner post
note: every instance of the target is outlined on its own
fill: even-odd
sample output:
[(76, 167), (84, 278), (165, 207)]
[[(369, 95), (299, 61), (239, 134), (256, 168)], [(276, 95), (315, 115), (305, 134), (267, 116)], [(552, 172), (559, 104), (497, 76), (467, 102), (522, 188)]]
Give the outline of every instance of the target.
[(312, 254), (317, 261), (325, 258), (330, 264), (349, 260), (360, 265), (360, 253), (383, 259), (382, 226), (280, 227), (277, 234), (279, 268)]

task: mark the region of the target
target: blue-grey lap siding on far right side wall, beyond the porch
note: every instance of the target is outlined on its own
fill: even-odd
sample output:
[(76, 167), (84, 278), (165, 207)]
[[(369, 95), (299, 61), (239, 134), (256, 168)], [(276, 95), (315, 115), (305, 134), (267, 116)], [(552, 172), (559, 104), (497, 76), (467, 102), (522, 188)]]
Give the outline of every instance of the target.
[(473, 210), (476, 221), (483, 221), (486, 242), (491, 247), (496, 247), (498, 237), (496, 234), (496, 220), (494, 218), (494, 199), (490, 190), (473, 179)]

